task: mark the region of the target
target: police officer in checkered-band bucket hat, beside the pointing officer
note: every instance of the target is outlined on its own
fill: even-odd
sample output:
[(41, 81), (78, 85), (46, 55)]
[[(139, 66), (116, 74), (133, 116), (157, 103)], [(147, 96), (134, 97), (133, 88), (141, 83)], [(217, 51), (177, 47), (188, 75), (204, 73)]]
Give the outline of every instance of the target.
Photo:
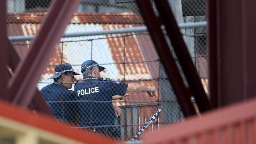
[(66, 102), (75, 100), (74, 91), (69, 90), (72, 88), (72, 83), (76, 81), (75, 75), (80, 74), (75, 72), (69, 63), (57, 65), (54, 75), (49, 78), (54, 79), (54, 82), (43, 87), (40, 92), (58, 120), (79, 124), (76, 103)]

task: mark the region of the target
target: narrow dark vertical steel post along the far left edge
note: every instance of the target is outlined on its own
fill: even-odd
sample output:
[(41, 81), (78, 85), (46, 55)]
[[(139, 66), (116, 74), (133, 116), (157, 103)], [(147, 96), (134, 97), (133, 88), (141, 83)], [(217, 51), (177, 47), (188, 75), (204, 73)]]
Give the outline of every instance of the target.
[(1, 39), (1, 53), (0, 53), (0, 66), (2, 68), (0, 72), (1, 76), (1, 83), (0, 83), (0, 98), (5, 99), (7, 97), (7, 71), (4, 69), (6, 68), (7, 64), (7, 55), (8, 55), (8, 45), (7, 41), (7, 31), (6, 31), (6, 0), (0, 1), (0, 39)]

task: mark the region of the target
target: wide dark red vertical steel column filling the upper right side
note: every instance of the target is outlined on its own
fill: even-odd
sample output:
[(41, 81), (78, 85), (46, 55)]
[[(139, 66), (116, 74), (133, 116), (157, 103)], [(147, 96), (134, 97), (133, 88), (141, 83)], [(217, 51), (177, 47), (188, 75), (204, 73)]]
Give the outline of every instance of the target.
[(255, 0), (208, 0), (210, 98), (215, 107), (256, 96)]

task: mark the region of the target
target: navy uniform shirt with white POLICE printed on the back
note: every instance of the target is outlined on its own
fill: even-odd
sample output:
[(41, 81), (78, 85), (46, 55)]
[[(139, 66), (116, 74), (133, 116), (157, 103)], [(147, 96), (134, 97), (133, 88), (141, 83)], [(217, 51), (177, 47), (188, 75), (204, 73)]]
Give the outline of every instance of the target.
[(80, 83), (76, 83), (74, 90), (81, 113), (81, 125), (83, 127), (114, 125), (112, 96), (124, 96), (127, 87), (128, 84), (120, 81), (92, 76), (84, 77)]

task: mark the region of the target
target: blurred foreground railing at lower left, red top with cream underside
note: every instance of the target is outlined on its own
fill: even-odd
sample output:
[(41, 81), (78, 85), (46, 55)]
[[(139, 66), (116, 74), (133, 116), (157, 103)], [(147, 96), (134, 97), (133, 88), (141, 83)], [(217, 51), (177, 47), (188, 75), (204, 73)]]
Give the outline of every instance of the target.
[[(50, 143), (63, 144), (115, 144), (109, 138), (71, 129), (57, 122), (54, 118), (41, 113), (21, 109), (0, 100), (0, 135), (17, 138), (17, 143)], [(9, 133), (8, 133), (9, 132)]]

